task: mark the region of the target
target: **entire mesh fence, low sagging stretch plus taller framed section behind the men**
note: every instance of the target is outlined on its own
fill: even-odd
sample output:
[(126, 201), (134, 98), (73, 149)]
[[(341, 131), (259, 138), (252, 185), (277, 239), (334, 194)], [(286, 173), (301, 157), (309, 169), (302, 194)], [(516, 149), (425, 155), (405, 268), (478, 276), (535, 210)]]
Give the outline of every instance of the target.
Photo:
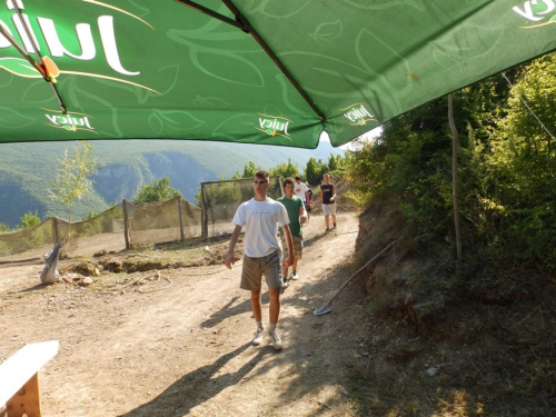
[[(269, 178), (268, 197), (282, 196), (279, 176)], [(62, 255), (117, 252), (159, 244), (231, 234), (231, 220), (241, 202), (252, 198), (252, 178), (201, 182), (199, 208), (178, 196), (167, 201), (123, 200), (82, 221), (50, 217), (40, 225), (0, 234), (0, 262), (32, 259), (63, 240)]]

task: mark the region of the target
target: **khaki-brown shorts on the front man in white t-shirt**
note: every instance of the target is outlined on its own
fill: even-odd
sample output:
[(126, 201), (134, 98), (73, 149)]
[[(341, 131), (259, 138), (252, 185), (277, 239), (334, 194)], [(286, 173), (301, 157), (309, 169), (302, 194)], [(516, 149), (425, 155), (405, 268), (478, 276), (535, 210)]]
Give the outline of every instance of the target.
[(268, 288), (280, 288), (282, 286), (279, 250), (262, 258), (250, 258), (244, 255), (239, 287), (250, 291), (259, 291), (262, 286), (262, 275), (265, 275)]

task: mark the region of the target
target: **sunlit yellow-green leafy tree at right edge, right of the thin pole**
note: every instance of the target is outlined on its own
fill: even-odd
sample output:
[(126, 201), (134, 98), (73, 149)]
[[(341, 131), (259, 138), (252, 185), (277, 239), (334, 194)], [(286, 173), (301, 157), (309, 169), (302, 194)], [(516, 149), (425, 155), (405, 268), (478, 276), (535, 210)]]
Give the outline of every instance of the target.
[(556, 267), (556, 54), (522, 67), (490, 141), (487, 219), (514, 258)]

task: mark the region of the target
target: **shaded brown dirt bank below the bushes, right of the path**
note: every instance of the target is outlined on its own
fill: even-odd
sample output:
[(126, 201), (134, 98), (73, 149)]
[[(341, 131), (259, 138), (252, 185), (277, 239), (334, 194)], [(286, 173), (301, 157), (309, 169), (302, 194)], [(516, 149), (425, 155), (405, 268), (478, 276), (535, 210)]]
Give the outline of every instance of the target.
[(377, 331), (371, 364), (353, 369), (359, 411), (556, 416), (556, 280), (483, 270), (469, 286), (416, 252), (400, 225), (395, 205), (360, 216), (361, 260), (397, 242), (360, 281)]

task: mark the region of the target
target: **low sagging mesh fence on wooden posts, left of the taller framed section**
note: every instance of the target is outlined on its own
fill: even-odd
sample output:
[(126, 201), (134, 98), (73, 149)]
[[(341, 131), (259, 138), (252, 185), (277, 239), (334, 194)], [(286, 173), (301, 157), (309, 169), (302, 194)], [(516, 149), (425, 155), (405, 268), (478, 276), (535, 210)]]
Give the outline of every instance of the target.
[(68, 256), (117, 252), (201, 236), (201, 209), (178, 196), (167, 201), (123, 200), (83, 221), (50, 217), (39, 225), (0, 234), (0, 262), (34, 259), (64, 240)]

